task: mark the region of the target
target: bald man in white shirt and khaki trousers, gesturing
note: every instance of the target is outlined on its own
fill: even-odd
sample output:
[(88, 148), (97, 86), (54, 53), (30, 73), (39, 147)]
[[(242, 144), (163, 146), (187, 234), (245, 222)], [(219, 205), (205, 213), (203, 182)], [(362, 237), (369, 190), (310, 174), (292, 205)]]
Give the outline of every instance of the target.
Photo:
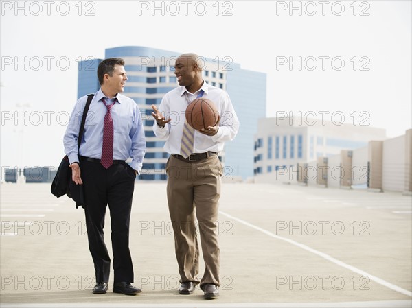
[[(166, 141), (165, 151), (171, 154), (166, 164), (167, 195), (181, 276), (179, 293), (192, 294), (200, 283), (205, 298), (210, 299), (219, 296), (220, 286), (216, 224), (222, 164), (218, 153), (222, 152), (225, 141), (231, 141), (238, 133), (239, 121), (229, 95), (203, 80), (202, 64), (196, 54), (182, 54), (176, 59), (174, 73), (179, 86), (165, 94), (159, 109), (152, 105), (152, 116), (156, 119), (153, 131)], [(195, 130), (192, 138), (188, 138), (184, 132), (185, 110), (192, 100), (200, 97), (214, 102), (220, 116), (216, 126)], [(196, 218), (205, 261), (200, 281)]]

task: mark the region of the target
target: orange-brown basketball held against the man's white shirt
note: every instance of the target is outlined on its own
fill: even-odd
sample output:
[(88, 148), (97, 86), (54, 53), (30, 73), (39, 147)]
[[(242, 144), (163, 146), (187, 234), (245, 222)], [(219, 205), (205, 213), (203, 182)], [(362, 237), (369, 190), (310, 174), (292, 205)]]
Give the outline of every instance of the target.
[(186, 121), (195, 130), (207, 129), (208, 126), (215, 126), (218, 122), (219, 112), (216, 104), (210, 99), (196, 98), (187, 105)]

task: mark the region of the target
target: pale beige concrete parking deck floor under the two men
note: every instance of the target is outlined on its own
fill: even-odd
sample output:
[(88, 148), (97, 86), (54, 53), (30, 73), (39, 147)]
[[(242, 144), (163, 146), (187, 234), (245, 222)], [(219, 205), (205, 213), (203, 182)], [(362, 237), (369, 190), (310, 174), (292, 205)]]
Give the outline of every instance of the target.
[[(137, 182), (137, 296), (95, 295), (84, 215), (49, 184), (1, 185), (1, 307), (411, 307), (411, 196), (224, 183), (220, 298), (179, 295), (165, 183)], [(106, 244), (111, 251), (106, 217)], [(204, 270), (201, 263), (201, 273)], [(113, 272), (111, 272), (113, 279)], [(113, 282), (109, 282), (113, 287)]]

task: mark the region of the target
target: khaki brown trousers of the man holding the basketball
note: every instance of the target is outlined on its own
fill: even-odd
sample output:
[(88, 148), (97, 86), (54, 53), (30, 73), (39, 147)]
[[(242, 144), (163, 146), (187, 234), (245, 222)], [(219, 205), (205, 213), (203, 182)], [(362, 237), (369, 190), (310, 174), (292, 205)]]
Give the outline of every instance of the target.
[[(166, 173), (169, 213), (181, 283), (200, 283), (201, 289), (206, 283), (219, 286), (220, 249), (216, 228), (222, 164), (217, 155), (198, 162), (181, 161), (170, 156)], [(196, 225), (201, 235), (205, 261), (201, 281), (197, 277), (199, 250)]]

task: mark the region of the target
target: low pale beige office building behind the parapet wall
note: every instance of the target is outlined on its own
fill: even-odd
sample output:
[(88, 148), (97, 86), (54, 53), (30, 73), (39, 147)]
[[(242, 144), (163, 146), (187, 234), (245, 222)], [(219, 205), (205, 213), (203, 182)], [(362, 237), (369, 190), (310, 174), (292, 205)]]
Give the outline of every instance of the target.
[[(385, 140), (385, 129), (354, 126), (325, 117), (274, 117), (260, 119), (255, 134), (255, 178), (271, 175), (280, 169), (308, 163), (318, 157), (340, 154), (341, 150), (365, 147), (370, 140)], [(342, 119), (340, 117), (339, 119)]]

